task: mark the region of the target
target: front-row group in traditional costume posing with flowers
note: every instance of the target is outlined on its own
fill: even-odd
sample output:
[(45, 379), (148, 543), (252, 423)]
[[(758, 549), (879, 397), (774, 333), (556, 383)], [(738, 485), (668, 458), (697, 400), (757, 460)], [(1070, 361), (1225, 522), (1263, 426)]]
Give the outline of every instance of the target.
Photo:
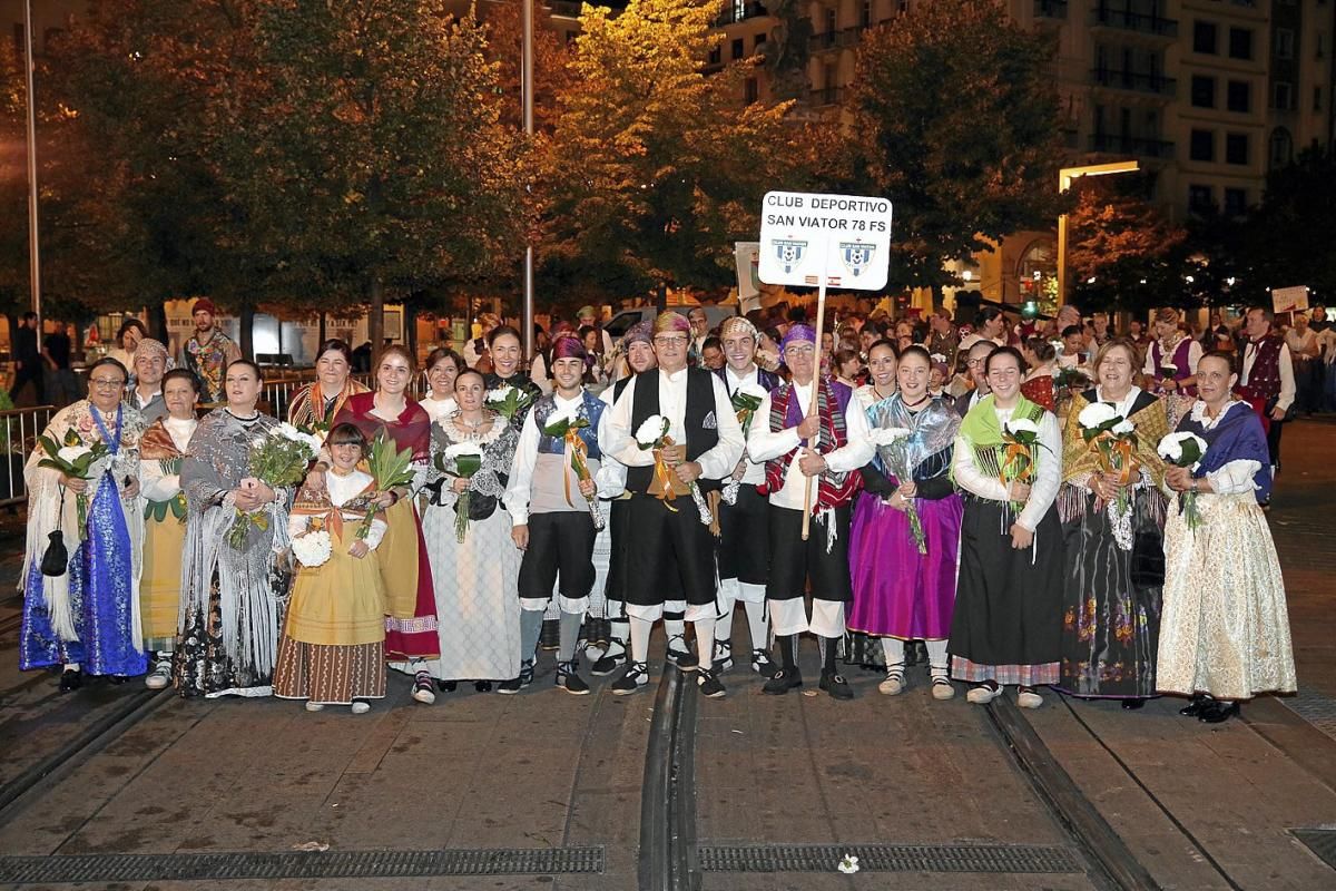
[[(61, 689), (146, 675), (183, 696), (361, 713), (387, 667), (424, 704), (461, 681), (518, 693), (548, 624), (558, 689), (589, 693), (585, 655), (632, 695), (661, 622), (664, 661), (707, 697), (739, 661), (767, 695), (802, 687), (804, 633), (836, 700), (854, 697), (839, 657), (855, 640), (884, 695), (911, 687), (918, 647), (938, 700), (958, 684), (977, 704), (1015, 687), (1027, 708), (1046, 687), (1129, 709), (1173, 693), (1214, 723), (1295, 689), (1259, 506), (1267, 433), (1233, 395), (1230, 355), (1153, 355), (1192, 367), (1178, 393), (1152, 391), (1140, 347), (1112, 338), (1059, 421), (993, 339), (967, 347), (973, 390), (953, 398), (934, 394), (923, 346), (871, 343), (854, 387), (822, 374), (804, 323), (778, 345), (783, 375), (758, 365), (745, 318), (717, 331), (721, 367), (691, 361), (693, 335), (675, 313), (633, 326), (627, 375), (597, 394), (574, 337), (545, 353), (542, 387), (504, 325), (486, 374), (449, 349), (417, 369), (389, 346), (370, 390), (329, 341), (290, 402), (287, 421), (321, 441), (290, 485), (253, 466), (279, 427), (257, 407), (255, 365), (231, 361), (224, 405), (196, 421), (196, 375), (163, 373), (166, 351), (142, 339), (135, 387), (120, 362), (94, 365), (88, 398), (47, 430), (59, 454), (28, 461), (23, 668), (59, 667)], [(1108, 423), (1092, 430), (1096, 415)], [(1174, 431), (1202, 453), (1165, 453)], [(407, 465), (383, 490), (378, 442)], [(329, 553), (305, 557), (326, 534)], [(735, 659), (737, 604), (749, 657)]]

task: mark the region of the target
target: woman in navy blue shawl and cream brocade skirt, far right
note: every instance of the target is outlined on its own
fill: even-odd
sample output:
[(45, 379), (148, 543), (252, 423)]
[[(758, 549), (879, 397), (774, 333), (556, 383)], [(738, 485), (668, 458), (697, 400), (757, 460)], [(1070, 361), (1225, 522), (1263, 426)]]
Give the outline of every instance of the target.
[[(1285, 582), (1259, 501), (1271, 496), (1267, 434), (1232, 398), (1233, 357), (1197, 363), (1198, 399), (1178, 423), (1206, 442), (1193, 468), (1169, 468), (1164, 620), (1156, 688), (1192, 696), (1182, 715), (1216, 724), (1240, 700), (1296, 689)], [(1190, 502), (1190, 504), (1189, 504)]]

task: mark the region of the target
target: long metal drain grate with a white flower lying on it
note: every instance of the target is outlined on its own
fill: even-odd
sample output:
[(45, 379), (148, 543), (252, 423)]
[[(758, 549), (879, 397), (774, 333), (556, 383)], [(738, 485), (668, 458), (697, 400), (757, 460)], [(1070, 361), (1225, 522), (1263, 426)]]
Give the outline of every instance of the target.
[(707, 872), (835, 872), (846, 854), (867, 872), (1082, 872), (1069, 848), (1021, 844), (700, 846)]

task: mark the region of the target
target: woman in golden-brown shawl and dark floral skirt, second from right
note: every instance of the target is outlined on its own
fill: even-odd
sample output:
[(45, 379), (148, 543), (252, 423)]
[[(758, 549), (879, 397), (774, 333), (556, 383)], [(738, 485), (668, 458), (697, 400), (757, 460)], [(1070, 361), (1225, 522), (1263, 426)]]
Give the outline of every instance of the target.
[[(1100, 385), (1073, 397), (1063, 427), (1058, 493), (1066, 541), (1059, 689), (1121, 699), (1124, 708), (1141, 708), (1156, 692), (1162, 584), (1156, 569), (1165, 516), (1164, 461), (1156, 446), (1169, 431), (1164, 402), (1132, 383), (1138, 367), (1141, 355), (1132, 341), (1118, 338), (1100, 347), (1094, 359)], [(1126, 473), (1110, 470), (1102, 457), (1118, 448), (1112, 431), (1090, 439), (1082, 433), (1083, 421), (1114, 419), (1133, 427), (1134, 439), (1122, 446)]]

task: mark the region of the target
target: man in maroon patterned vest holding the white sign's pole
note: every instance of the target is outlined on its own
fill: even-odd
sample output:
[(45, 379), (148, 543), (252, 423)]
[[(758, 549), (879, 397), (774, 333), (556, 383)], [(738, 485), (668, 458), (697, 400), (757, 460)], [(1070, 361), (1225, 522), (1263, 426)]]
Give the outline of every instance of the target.
[[(791, 383), (770, 393), (756, 410), (747, 437), (747, 454), (766, 462), (770, 489), (770, 601), (771, 622), (783, 659), (764, 692), (783, 695), (802, 687), (798, 671), (798, 635), (811, 631), (822, 643), (823, 691), (852, 699), (854, 691), (835, 671), (844, 637), (844, 604), (852, 597), (848, 570), (848, 525), (859, 468), (872, 460), (867, 415), (850, 399), (854, 391), (838, 381), (816, 378), (816, 333), (795, 325), (782, 345)], [(810, 410), (810, 406), (816, 410)], [(810, 501), (808, 480), (816, 484)], [(804, 514), (811, 504), (811, 534), (804, 536)], [(803, 596), (812, 584), (812, 617)]]

